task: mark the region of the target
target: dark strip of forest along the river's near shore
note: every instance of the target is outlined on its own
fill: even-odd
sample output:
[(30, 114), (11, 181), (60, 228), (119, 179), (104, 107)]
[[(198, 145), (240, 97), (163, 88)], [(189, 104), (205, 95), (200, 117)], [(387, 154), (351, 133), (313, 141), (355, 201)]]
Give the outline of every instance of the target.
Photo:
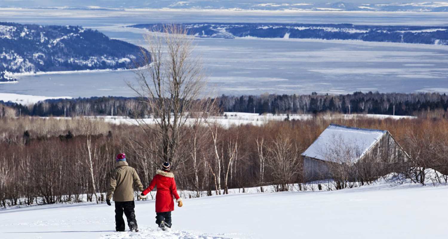
[[(275, 95), (259, 96), (219, 96), (211, 99), (219, 105), (221, 112), (244, 113), (291, 113), (317, 114), (360, 113), (388, 115), (418, 115), (422, 112), (448, 108), (448, 96), (439, 93), (378, 93), (354, 92), (347, 95)], [(13, 114), (29, 116), (80, 115), (146, 117), (151, 114), (145, 103), (138, 97), (91, 97), (78, 99), (46, 100), (33, 105), (11, 102), (2, 103), (13, 110)], [(1, 108), (0, 108), (1, 109)], [(4, 115), (3, 110), (3, 115)], [(0, 111), (0, 117), (2, 111)]]

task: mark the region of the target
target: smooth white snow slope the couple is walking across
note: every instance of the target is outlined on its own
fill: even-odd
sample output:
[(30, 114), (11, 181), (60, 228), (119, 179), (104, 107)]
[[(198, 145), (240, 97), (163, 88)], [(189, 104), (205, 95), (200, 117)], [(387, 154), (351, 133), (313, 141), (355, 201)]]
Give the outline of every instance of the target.
[(106, 204), (0, 210), (0, 238), (444, 239), (448, 186), (388, 183), (340, 191), (246, 193), (184, 199), (171, 232), (157, 230), (154, 201), (136, 202), (141, 232), (114, 232)]

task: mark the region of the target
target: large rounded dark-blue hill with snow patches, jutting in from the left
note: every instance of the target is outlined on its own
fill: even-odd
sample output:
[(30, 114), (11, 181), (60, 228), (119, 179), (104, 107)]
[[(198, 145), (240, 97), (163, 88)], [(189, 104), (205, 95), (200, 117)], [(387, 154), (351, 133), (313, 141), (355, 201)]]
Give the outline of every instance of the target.
[(10, 73), (129, 69), (140, 48), (80, 26), (0, 22), (0, 81)]

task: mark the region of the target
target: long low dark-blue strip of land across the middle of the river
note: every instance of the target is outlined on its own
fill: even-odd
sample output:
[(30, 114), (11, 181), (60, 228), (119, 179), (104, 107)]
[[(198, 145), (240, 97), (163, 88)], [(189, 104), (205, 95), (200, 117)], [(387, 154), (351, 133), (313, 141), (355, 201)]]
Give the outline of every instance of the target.
[[(209, 38), (296, 38), (326, 40), (362, 40), (448, 45), (448, 27), (434, 26), (362, 26), (353, 24), (285, 23), (185, 23), (190, 35)], [(160, 24), (137, 24), (129, 27), (151, 31)]]

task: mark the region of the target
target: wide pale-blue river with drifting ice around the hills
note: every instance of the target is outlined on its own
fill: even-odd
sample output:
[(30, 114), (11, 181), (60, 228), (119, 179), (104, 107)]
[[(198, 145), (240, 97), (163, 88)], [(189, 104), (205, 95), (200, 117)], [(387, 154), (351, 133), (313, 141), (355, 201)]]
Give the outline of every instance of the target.
[[(233, 13), (10, 9), (0, 21), (81, 25), (144, 45), (149, 22), (300, 22), (448, 26), (447, 13)], [(298, 39), (197, 39), (212, 95), (448, 92), (448, 46)], [(132, 71), (24, 76), (0, 92), (41, 96), (134, 96)]]

